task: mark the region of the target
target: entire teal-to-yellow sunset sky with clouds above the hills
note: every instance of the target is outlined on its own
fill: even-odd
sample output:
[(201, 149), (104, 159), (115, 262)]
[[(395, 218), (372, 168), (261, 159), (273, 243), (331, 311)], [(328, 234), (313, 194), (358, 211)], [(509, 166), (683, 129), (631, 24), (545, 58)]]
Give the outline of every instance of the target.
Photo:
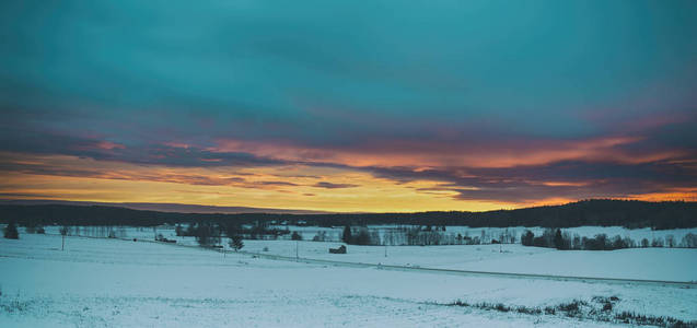
[(697, 200), (695, 1), (2, 1), (0, 198)]

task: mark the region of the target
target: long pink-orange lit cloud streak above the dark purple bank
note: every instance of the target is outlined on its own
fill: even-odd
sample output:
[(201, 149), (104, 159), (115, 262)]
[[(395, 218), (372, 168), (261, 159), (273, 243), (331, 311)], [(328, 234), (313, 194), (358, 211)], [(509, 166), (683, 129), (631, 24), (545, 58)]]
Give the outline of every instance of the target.
[(287, 141), (219, 140), (211, 152), (245, 152), (281, 161), (330, 163), (365, 167), (513, 167), (542, 165), (558, 161), (609, 161), (648, 163), (682, 155), (674, 150), (634, 154), (618, 149), (642, 140), (638, 137), (613, 137), (580, 141), (497, 142), (489, 145), (419, 141), (375, 142), (356, 148), (312, 148)]

